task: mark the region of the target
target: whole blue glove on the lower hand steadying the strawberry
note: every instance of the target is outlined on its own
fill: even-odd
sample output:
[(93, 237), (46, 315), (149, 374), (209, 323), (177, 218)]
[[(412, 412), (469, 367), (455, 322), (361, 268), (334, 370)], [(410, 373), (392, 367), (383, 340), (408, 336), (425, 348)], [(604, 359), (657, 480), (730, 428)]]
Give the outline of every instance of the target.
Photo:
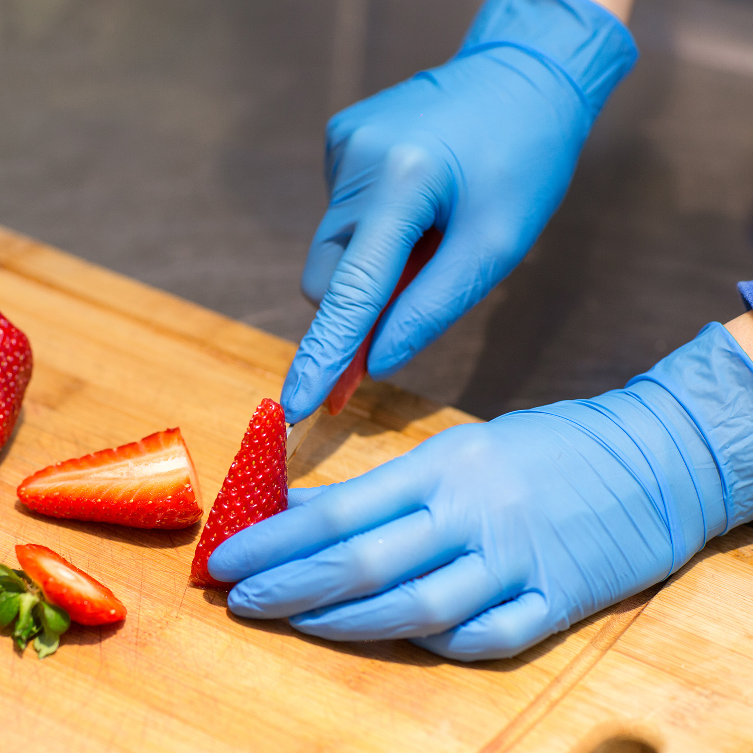
[[(221, 544), (242, 617), (509, 657), (753, 518), (753, 362), (708, 325), (625, 389), (437, 434)], [(423, 577), (420, 577), (423, 576)], [(245, 580), (242, 580), (245, 578)]]

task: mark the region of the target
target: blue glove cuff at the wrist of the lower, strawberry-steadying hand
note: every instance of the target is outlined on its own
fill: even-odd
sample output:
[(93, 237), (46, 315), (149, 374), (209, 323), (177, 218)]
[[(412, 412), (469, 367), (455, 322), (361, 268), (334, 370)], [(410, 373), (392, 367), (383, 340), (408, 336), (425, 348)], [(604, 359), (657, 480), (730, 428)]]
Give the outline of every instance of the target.
[(704, 495), (702, 505), (713, 504), (721, 493), (726, 520), (722, 530), (709, 530), (709, 535), (753, 520), (753, 361), (727, 328), (718, 322), (706, 325), (626, 389), (645, 383), (672, 395), (687, 416), (684, 431), (698, 434), (713, 459), (719, 491)]

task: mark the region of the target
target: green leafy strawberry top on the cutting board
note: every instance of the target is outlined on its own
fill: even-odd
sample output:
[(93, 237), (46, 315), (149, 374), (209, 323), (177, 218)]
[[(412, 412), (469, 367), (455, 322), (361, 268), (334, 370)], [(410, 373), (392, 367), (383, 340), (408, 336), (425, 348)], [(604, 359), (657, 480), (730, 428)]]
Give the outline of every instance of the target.
[(14, 620), (11, 636), (19, 651), (34, 639), (40, 659), (54, 654), (60, 636), (71, 625), (65, 609), (44, 599), (41, 588), (23, 570), (0, 565), (0, 627), (8, 627)]

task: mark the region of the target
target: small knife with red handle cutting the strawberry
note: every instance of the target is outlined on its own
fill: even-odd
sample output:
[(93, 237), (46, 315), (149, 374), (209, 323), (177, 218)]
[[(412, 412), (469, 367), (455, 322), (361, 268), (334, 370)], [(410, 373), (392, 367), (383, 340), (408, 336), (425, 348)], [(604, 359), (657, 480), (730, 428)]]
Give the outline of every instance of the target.
[(322, 410), (326, 409), (331, 416), (337, 416), (337, 413), (343, 410), (352, 394), (358, 389), (358, 385), (361, 384), (361, 380), (366, 375), (366, 364), (371, 340), (373, 340), (374, 332), (377, 331), (380, 319), (384, 316), (384, 312), (392, 306), (398, 295), (413, 282), (413, 278), (425, 267), (429, 259), (434, 256), (434, 252), (436, 252), (441, 240), (442, 233), (436, 227), (430, 227), (416, 241), (416, 245), (413, 246), (410, 252), (410, 256), (403, 268), (403, 273), (400, 279), (398, 279), (398, 284), (395, 285), (395, 290), (392, 291), (387, 305), (382, 309), (380, 315), (377, 317), (377, 321), (374, 322), (373, 327), (358, 347), (353, 360), (348, 364), (346, 370), (340, 374), (340, 379), (337, 380), (337, 383), (332, 388), (332, 392), (328, 395), (324, 405), (320, 405), (310, 416), (302, 421), (288, 425), (288, 462), (297, 453), (298, 448), (303, 444), (303, 440), (308, 436), (316, 420), (322, 415)]

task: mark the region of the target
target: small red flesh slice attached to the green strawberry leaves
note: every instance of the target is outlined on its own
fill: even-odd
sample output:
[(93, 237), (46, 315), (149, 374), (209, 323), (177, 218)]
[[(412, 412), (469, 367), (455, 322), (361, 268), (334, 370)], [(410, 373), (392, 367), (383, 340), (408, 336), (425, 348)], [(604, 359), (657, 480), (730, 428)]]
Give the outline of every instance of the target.
[(16, 556), (26, 575), (48, 602), (65, 609), (81, 625), (106, 625), (123, 620), (126, 608), (112, 591), (91, 575), (41, 544), (17, 545)]

